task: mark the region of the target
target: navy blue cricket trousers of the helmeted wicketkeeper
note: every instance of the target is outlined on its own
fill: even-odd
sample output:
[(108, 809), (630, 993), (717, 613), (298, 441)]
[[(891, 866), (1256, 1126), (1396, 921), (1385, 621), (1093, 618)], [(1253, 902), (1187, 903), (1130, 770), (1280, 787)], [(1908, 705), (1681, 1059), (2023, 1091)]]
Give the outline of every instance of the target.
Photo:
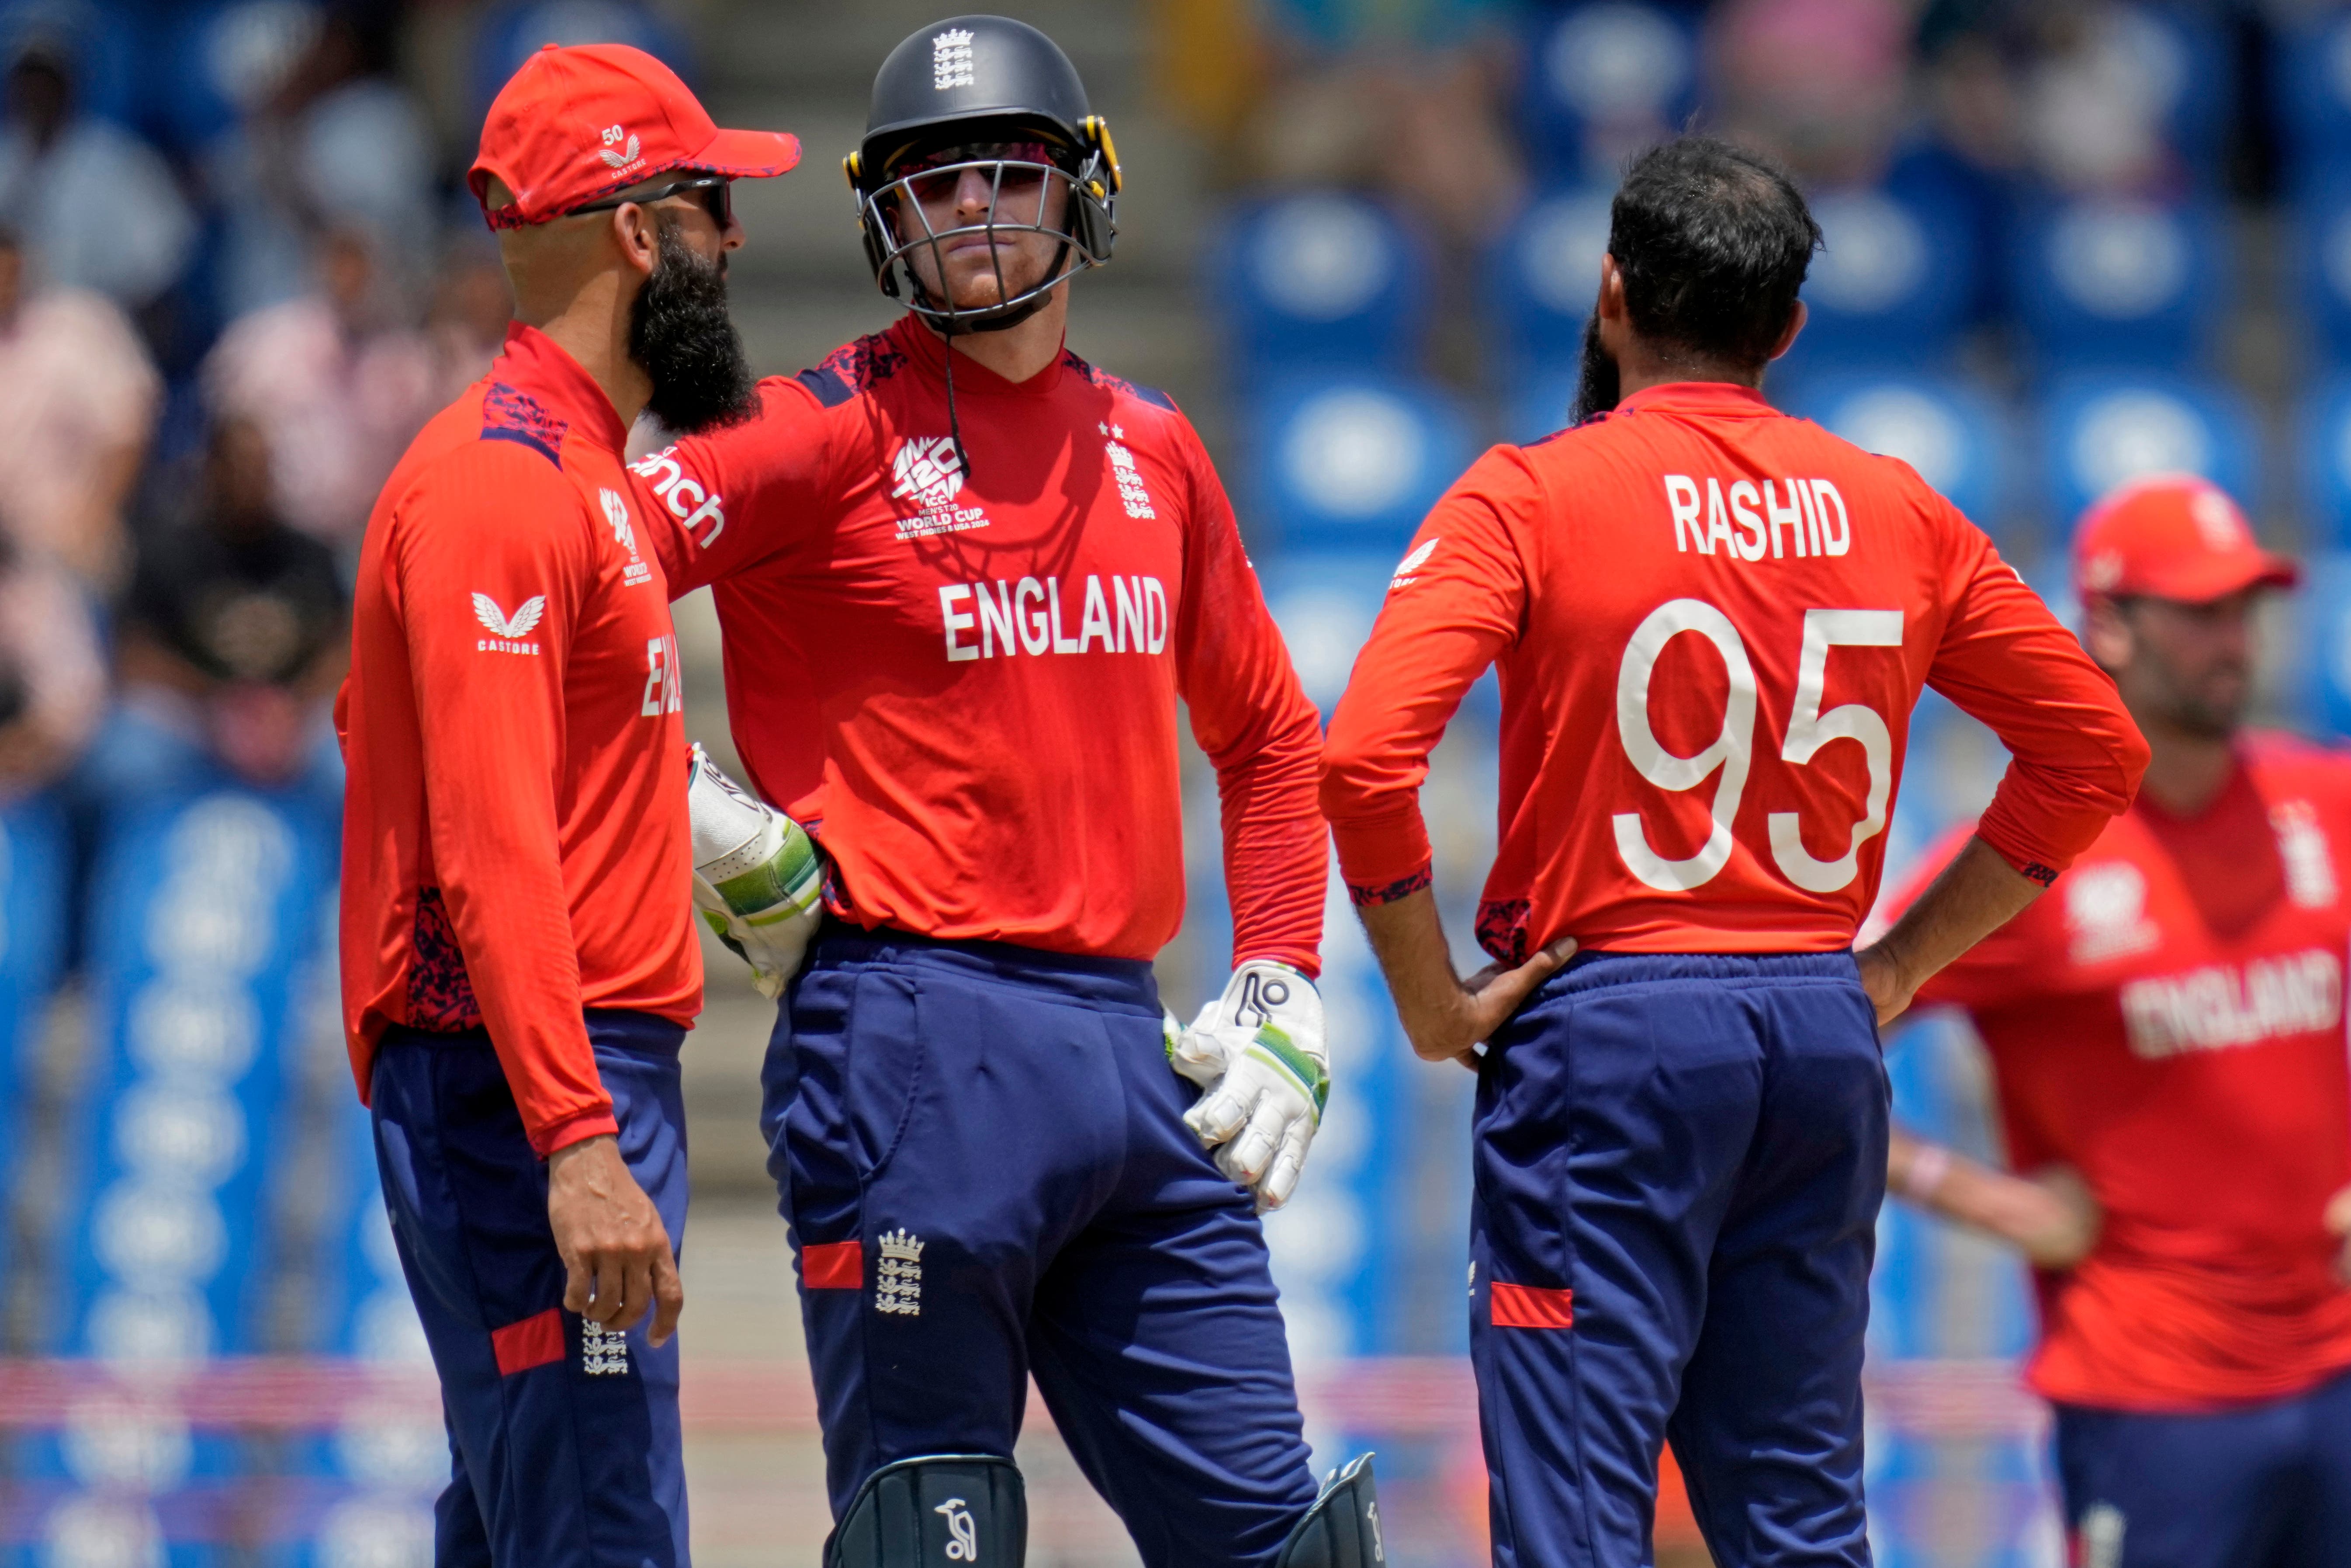
[(1180, 1117), (1140, 961), (832, 929), (766, 1056), (832, 1514), (1011, 1455), (1034, 1375), (1147, 1568), (1270, 1563), (1314, 1502), (1253, 1201)]

